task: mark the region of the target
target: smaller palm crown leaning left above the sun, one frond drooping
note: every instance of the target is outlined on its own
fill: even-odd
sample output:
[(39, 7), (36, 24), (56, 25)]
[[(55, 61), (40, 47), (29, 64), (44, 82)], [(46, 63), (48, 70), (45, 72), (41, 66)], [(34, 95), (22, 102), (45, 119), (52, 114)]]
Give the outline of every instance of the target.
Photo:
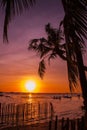
[(45, 26), (47, 34), (46, 38), (33, 39), (29, 43), (30, 50), (34, 50), (39, 54), (41, 62), (39, 64), (38, 73), (43, 78), (45, 73), (45, 59), (50, 62), (51, 59), (57, 58), (58, 56), (66, 60), (64, 45), (60, 44), (63, 40), (63, 36), (60, 29), (54, 29), (50, 24)]

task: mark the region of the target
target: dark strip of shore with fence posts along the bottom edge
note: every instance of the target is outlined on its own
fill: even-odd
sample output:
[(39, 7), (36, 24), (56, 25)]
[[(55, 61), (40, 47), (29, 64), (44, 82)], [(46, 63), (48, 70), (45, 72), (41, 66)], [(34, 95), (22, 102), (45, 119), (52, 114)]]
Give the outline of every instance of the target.
[(47, 122), (37, 122), (34, 124), (26, 124), (26, 125), (18, 125), (18, 126), (3, 126), (0, 130), (63, 130), (63, 129), (73, 129), (73, 130), (79, 130), (83, 129), (85, 130), (85, 118), (77, 118), (70, 120), (69, 118), (65, 119), (62, 118), (62, 120), (58, 120), (58, 117), (56, 116), (55, 120), (50, 120)]

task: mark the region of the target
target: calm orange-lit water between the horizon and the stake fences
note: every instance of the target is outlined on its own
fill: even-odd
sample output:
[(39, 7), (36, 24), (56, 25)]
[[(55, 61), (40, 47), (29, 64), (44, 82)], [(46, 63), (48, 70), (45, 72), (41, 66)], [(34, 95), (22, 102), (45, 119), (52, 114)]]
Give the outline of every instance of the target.
[(3, 93), (0, 94), (1, 103), (35, 103), (35, 102), (51, 102), (54, 112), (61, 119), (62, 117), (78, 118), (84, 115), (81, 109), (83, 106), (82, 96), (77, 94), (23, 94), (23, 93)]

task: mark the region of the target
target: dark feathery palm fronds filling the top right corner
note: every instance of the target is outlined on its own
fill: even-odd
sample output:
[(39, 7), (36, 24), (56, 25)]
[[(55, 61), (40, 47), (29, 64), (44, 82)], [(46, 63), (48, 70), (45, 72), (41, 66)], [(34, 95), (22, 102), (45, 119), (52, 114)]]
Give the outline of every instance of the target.
[[(87, 39), (87, 6), (85, 0), (62, 0), (69, 28), (73, 29), (82, 43)], [(70, 25), (71, 24), (71, 25)]]

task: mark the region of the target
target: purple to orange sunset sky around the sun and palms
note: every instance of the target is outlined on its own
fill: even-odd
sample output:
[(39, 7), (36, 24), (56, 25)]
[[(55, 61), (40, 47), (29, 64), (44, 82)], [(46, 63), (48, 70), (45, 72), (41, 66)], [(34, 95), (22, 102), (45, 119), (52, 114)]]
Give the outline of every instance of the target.
[(36, 53), (28, 51), (29, 41), (45, 36), (44, 26), (58, 27), (63, 18), (60, 0), (37, 0), (30, 10), (16, 16), (9, 24), (9, 43), (3, 43), (4, 12), (0, 12), (0, 91), (27, 92), (25, 83), (36, 82), (34, 92), (69, 92), (66, 62), (51, 61), (43, 80), (38, 76)]

